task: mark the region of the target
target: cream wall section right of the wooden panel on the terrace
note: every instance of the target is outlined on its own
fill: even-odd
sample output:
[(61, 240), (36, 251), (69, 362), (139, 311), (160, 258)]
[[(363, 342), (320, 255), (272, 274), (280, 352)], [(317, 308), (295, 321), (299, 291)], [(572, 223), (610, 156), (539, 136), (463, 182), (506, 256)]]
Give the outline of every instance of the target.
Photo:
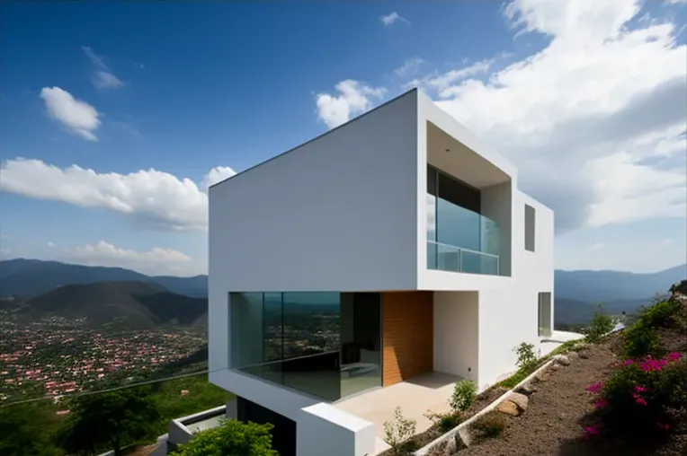
[(477, 292), (434, 292), (434, 371), (478, 381)]

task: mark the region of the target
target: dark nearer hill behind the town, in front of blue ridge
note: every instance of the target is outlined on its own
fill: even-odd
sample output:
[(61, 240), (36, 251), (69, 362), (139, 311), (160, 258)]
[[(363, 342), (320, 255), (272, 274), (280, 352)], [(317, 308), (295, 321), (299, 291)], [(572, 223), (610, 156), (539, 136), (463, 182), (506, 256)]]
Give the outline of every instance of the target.
[(147, 282), (65, 285), (22, 305), (22, 314), (31, 319), (43, 315), (86, 317), (94, 326), (123, 320), (128, 329), (165, 323), (204, 326), (207, 311), (205, 298), (174, 294), (162, 285)]

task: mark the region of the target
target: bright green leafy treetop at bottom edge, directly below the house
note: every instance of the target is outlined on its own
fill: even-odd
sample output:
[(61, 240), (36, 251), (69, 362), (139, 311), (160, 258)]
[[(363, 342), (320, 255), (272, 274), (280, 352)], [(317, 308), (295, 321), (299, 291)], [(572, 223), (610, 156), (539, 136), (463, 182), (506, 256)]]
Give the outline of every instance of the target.
[(272, 425), (236, 419), (196, 434), (174, 456), (279, 456), (272, 450)]

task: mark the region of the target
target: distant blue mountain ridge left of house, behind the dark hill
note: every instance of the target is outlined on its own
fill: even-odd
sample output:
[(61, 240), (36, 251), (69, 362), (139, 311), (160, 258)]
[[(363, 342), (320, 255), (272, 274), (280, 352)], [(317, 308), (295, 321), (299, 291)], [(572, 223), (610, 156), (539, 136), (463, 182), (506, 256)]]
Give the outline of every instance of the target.
[(186, 296), (200, 298), (208, 295), (208, 276), (146, 276), (121, 267), (81, 266), (40, 259), (0, 261), (0, 296), (12, 294), (32, 298), (60, 285), (134, 281), (152, 282)]

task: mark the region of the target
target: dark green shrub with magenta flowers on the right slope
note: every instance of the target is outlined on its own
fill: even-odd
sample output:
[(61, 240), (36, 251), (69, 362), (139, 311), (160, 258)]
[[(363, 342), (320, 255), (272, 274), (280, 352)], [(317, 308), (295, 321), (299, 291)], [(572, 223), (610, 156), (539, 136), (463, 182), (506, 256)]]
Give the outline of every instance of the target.
[(596, 414), (601, 425), (587, 428), (592, 434), (656, 434), (670, 429), (670, 409), (687, 400), (687, 363), (678, 353), (663, 359), (629, 359), (614, 370), (605, 384), (587, 389), (598, 394)]

